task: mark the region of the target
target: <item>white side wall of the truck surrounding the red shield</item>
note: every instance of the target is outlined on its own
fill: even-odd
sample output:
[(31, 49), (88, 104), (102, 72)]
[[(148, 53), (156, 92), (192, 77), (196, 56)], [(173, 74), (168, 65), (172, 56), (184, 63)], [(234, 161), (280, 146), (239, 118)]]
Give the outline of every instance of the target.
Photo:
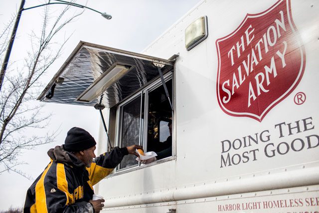
[[(261, 122), (249, 117), (230, 116), (223, 112), (217, 100), (216, 40), (233, 32), (247, 13), (265, 11), (276, 2), (202, 1), (145, 50), (144, 54), (160, 58), (179, 53), (174, 65), (173, 97), (176, 157), (161, 164), (111, 175), (101, 181), (98, 193), (106, 200), (105, 211), (318, 211), (319, 146), (316, 145), (319, 141), (313, 135), (319, 135), (319, 1), (289, 1), (306, 55), (304, 75), (291, 94), (274, 106)], [(208, 37), (187, 51), (184, 29), (203, 15), (208, 19)], [(307, 97), (301, 105), (294, 102), (298, 92)], [(282, 125), (280, 132), (278, 124), (283, 122), (286, 125)], [(295, 127), (296, 122), (299, 122), (300, 132), (295, 128), (289, 134), (288, 124)], [(258, 144), (252, 142), (251, 146), (244, 147), (244, 140), (248, 140), (248, 136), (256, 137), (256, 134)], [(222, 153), (222, 141), (232, 143), (236, 139), (241, 140), (242, 146), (237, 140), (236, 149)], [(303, 148), (301, 140), (305, 145)], [(105, 143), (105, 140), (100, 142)], [(290, 146), (286, 154), (283, 154), (283, 142)], [(268, 145), (270, 143), (273, 145)], [(294, 151), (292, 143), (300, 151)], [(248, 152), (246, 157), (249, 160), (243, 158), (244, 152)], [(222, 164), (222, 156), (226, 158), (228, 154), (230, 159), (234, 156), (234, 162)], [(286, 200), (286, 205), (265, 208), (267, 202), (279, 200)], [(290, 200), (296, 204), (287, 206)]]

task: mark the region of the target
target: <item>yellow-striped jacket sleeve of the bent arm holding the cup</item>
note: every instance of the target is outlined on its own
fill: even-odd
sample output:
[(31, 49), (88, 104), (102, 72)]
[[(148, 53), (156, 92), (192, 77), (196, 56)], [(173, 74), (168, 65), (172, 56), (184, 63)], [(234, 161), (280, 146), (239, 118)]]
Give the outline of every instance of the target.
[(73, 186), (68, 180), (63, 164), (49, 165), (35, 185), (35, 204), (30, 208), (30, 212), (93, 213), (90, 203), (74, 203), (73, 194), (68, 190)]

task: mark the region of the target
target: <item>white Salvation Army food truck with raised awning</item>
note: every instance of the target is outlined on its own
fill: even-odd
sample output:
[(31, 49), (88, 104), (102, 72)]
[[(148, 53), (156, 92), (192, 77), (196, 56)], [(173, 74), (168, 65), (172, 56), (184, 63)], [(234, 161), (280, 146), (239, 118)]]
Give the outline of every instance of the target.
[(318, 67), (318, 0), (203, 0), (143, 54), (80, 42), (39, 99), (99, 109), (98, 153), (168, 150), (103, 212), (318, 213)]

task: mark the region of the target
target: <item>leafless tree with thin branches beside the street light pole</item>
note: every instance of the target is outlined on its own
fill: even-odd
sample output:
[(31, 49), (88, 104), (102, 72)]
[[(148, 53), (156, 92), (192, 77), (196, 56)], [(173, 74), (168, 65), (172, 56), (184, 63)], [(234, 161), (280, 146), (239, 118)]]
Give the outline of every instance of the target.
[[(26, 52), (22, 67), (13, 68), (15, 63), (8, 64), (6, 75), (0, 91), (0, 174), (15, 172), (28, 178), (17, 167), (23, 150), (51, 143), (59, 130), (44, 136), (25, 134), (32, 129), (45, 129), (51, 114), (43, 114), (40, 103), (34, 100), (43, 88), (40, 82), (48, 68), (61, 55), (64, 44), (69, 37), (57, 43), (58, 33), (83, 13), (70, 14), (70, 5), (61, 9), (58, 15), (52, 16), (50, 7), (44, 7), (43, 20), (39, 32), (29, 35), (30, 48)], [(0, 33), (0, 58), (6, 49), (14, 17), (4, 26)], [(35, 131), (33, 131), (35, 132)]]

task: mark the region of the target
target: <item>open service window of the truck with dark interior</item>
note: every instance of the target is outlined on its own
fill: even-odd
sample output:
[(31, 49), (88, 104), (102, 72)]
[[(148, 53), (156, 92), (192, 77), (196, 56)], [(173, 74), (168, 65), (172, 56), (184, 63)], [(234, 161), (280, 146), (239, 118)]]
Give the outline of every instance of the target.
[[(171, 73), (164, 79), (172, 97)], [(172, 156), (172, 117), (172, 109), (159, 79), (117, 107), (117, 145), (143, 145), (145, 152), (156, 152), (158, 160)], [(138, 166), (136, 157), (128, 155), (117, 171)]]

